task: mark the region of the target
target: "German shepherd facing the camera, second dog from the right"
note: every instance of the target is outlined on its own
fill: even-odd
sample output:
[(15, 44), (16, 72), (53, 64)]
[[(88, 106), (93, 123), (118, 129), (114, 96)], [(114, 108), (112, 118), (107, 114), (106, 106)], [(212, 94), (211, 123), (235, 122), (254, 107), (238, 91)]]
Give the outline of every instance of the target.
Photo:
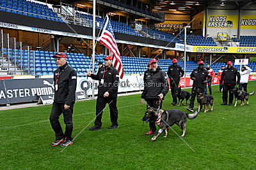
[(200, 107), (204, 105), (204, 113), (206, 111), (209, 111), (209, 104), (211, 104), (211, 111), (213, 108), (213, 97), (211, 95), (205, 95), (204, 94), (204, 89), (198, 89), (196, 92), (197, 96), (197, 103), (198, 103), (198, 112), (200, 111)]

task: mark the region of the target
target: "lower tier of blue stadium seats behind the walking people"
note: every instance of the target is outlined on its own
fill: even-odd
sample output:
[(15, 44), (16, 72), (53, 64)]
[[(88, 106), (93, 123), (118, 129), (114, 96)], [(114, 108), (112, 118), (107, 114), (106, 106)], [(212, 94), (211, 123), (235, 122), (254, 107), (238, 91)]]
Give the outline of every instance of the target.
[[(3, 49), (4, 54), (8, 53), (7, 49)], [(16, 49), (16, 59), (14, 57), (14, 49), (10, 48), (10, 59), (13, 62), (16, 60), (19, 67), (24, 69), (24, 71), (29, 73), (34, 72), (34, 52), (35, 52), (35, 73), (37, 76), (44, 74), (53, 74), (54, 69), (57, 69), (56, 61), (51, 56), (54, 52), (48, 51), (37, 51), (37, 50), (18, 50)], [(20, 53), (22, 53), (22, 59), (20, 59)], [(67, 54), (67, 62), (72, 66), (77, 74), (86, 74), (89, 67), (92, 69), (91, 59), (88, 56), (85, 56), (83, 53), (66, 53)], [(102, 58), (105, 55), (95, 55), (95, 70), (97, 70), (97, 62), (104, 62)], [(150, 58), (139, 58), (139, 57), (121, 57), (122, 64), (124, 65), (124, 73), (125, 74), (143, 74), (145, 69), (147, 69), (147, 64)], [(172, 64), (172, 60), (170, 59), (158, 59), (159, 66), (167, 73), (168, 67)], [(184, 60), (178, 60), (178, 64), (184, 69)], [(205, 67), (206, 67), (205, 63)], [(211, 65), (211, 68), (214, 70), (214, 73), (218, 73), (221, 69), (221, 66), (225, 65), (225, 62), (215, 62)], [(198, 67), (197, 62), (186, 61), (186, 73), (191, 73), (193, 69)], [(235, 66), (239, 68), (240, 66)], [(248, 67), (252, 69), (252, 71), (256, 71), (255, 62), (250, 62)]]

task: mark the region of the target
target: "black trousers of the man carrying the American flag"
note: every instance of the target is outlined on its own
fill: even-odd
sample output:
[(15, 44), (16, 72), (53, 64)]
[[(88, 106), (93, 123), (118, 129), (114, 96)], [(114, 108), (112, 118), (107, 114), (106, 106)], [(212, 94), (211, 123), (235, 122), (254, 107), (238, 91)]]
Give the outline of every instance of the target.
[(116, 108), (116, 99), (117, 97), (97, 97), (97, 103), (96, 103), (96, 119), (94, 124), (101, 127), (102, 122), (102, 113), (106, 106), (106, 104), (109, 104), (109, 111), (110, 111), (110, 120), (111, 123), (114, 125), (118, 125), (117, 118), (118, 118), (118, 110)]

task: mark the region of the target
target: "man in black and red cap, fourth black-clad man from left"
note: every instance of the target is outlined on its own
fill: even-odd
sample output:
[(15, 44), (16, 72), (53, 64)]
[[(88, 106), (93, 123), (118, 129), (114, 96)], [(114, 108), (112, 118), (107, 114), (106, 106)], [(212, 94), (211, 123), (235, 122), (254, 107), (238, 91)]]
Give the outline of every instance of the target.
[(177, 96), (175, 95), (175, 90), (179, 87), (180, 77), (184, 76), (184, 71), (181, 66), (177, 65), (177, 62), (177, 59), (173, 59), (173, 64), (168, 67), (167, 71), (167, 75), (170, 78), (173, 105), (177, 104)]

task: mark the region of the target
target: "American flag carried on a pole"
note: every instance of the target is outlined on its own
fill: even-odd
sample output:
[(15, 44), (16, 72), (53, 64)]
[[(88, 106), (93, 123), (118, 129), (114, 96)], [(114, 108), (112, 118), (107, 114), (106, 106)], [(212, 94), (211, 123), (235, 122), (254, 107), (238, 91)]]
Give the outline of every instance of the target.
[(116, 45), (116, 39), (108, 15), (99, 41), (100, 43), (102, 43), (102, 45), (106, 46), (109, 49), (110, 55), (112, 57), (112, 64), (117, 69), (120, 78), (123, 78), (124, 67), (121, 62), (120, 52), (118, 50), (118, 46)]

